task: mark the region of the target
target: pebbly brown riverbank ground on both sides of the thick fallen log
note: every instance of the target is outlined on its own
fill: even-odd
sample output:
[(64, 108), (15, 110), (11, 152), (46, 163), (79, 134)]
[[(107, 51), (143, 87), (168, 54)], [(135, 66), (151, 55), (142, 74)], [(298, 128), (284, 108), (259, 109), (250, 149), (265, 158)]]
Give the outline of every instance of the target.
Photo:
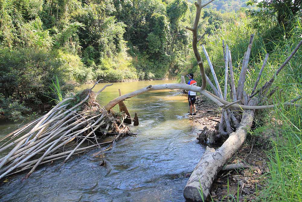
[[(196, 110), (198, 111), (197, 116), (192, 116), (190, 119), (199, 126), (198, 128), (203, 129), (206, 126), (208, 129), (214, 130), (221, 116), (217, 107), (210, 101), (199, 97), (196, 101)], [(263, 147), (256, 146), (259, 145), (257, 141), (248, 136), (245, 143), (227, 163), (242, 163), (249, 168), (239, 171), (220, 171), (206, 201), (253, 201), (262, 196), (265, 175), (269, 169), (267, 156)], [(218, 149), (219, 146), (214, 145), (214, 148)]]

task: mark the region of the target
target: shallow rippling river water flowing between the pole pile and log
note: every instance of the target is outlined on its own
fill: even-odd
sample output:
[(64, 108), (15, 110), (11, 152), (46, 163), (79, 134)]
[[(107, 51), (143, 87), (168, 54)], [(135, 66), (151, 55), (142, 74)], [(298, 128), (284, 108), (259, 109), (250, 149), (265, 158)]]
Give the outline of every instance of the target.
[[(98, 97), (106, 104), (122, 94), (166, 81), (114, 83)], [(99, 84), (94, 91), (105, 84)], [(84, 87), (91, 87), (87, 85)], [(177, 91), (150, 91), (125, 101), (140, 125), (104, 152), (106, 166), (92, 156), (98, 150), (74, 156), (64, 165), (53, 162), (39, 167), (21, 182), (24, 173), (0, 182), (0, 201), (185, 201), (183, 188), (204, 153), (198, 144), (197, 126), (189, 120), (188, 101)], [(118, 110), (116, 106), (114, 108)], [(0, 123), (0, 137), (21, 123)], [(3, 156), (3, 154), (0, 154)]]

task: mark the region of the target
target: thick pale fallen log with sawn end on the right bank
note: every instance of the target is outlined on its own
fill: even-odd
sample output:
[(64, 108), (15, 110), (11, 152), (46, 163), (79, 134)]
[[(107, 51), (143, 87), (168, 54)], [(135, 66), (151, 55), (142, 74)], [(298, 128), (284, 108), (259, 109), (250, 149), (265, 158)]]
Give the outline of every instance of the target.
[[(249, 101), (250, 106), (256, 104), (258, 104), (258, 98)], [(217, 173), (246, 139), (253, 119), (254, 110), (244, 110), (239, 127), (235, 132), (230, 134), (223, 145), (216, 151), (213, 148), (207, 147), (185, 186), (184, 197), (186, 199), (203, 201), (207, 198), (213, 181), (217, 177)], [(202, 194), (199, 193), (200, 191)]]

